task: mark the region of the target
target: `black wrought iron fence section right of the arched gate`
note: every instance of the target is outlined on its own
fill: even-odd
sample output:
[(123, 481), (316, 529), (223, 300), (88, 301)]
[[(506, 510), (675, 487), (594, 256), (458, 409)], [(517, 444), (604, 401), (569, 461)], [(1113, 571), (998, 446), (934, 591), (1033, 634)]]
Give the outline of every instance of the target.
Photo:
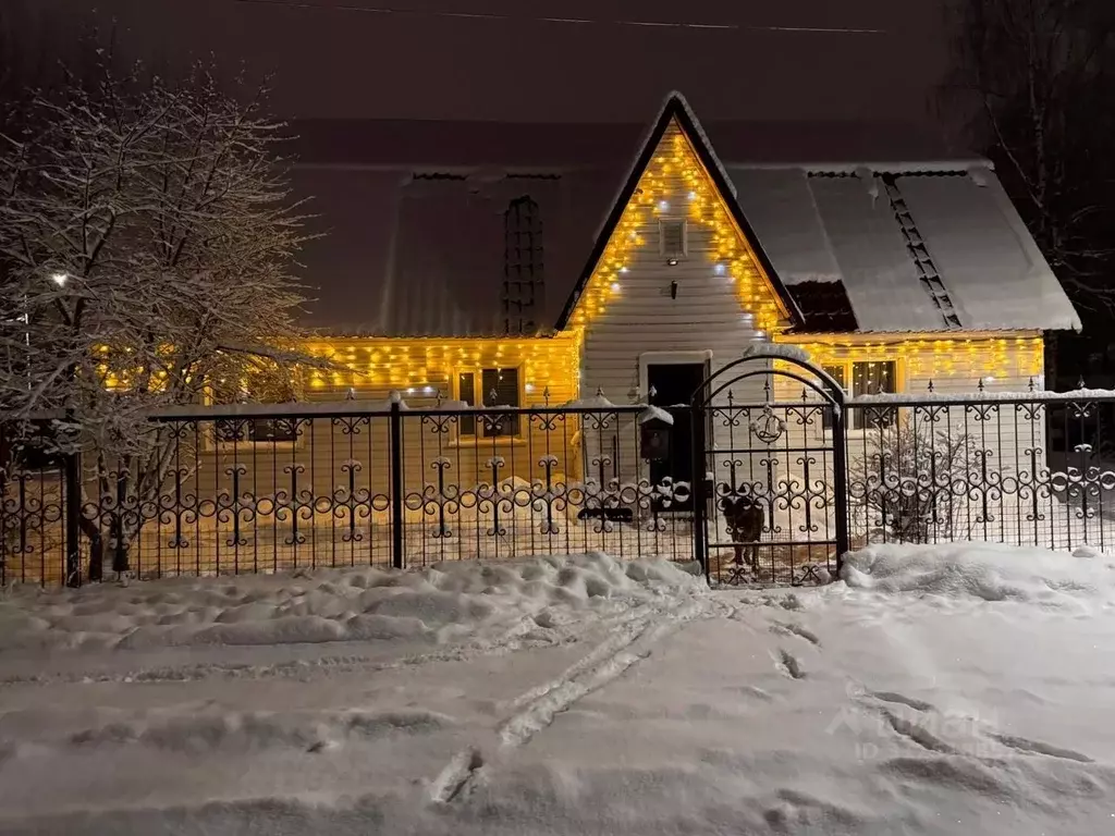
[(1115, 393), (859, 398), (849, 527), (864, 543), (1115, 545)]

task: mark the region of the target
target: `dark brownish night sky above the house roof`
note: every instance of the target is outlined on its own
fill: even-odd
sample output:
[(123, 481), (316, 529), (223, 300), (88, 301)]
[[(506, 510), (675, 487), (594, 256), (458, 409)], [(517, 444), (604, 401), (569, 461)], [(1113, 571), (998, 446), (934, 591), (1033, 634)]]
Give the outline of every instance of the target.
[[(253, 72), (273, 71), (273, 105), (293, 118), (643, 121), (676, 88), (712, 119), (921, 121), (929, 118), (947, 58), (941, 0), (292, 0), (289, 6), (35, 0), (33, 6), (70, 19), (96, 7), (101, 21), (115, 18), (117, 41), (130, 56), (173, 66), (213, 54), (230, 71), (241, 60)], [(515, 19), (423, 13), (432, 10)], [(740, 28), (536, 19), (547, 16)]]

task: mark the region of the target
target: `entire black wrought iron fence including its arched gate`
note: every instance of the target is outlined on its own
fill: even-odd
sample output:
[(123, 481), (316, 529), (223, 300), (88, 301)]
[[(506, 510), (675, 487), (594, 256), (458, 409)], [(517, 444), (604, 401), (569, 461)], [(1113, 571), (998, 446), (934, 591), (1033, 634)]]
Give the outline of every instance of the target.
[[(164, 412), (148, 455), (116, 461), (51, 453), (49, 421), (8, 422), (0, 582), (601, 550), (701, 560), (719, 582), (799, 583), (835, 570), (841, 528), (853, 547), (1115, 539), (1115, 392), (833, 404), (807, 387), (755, 397), (765, 373), (738, 397), (746, 386), (668, 411), (597, 398)], [(736, 561), (726, 521), (741, 497), (763, 509), (754, 566)]]

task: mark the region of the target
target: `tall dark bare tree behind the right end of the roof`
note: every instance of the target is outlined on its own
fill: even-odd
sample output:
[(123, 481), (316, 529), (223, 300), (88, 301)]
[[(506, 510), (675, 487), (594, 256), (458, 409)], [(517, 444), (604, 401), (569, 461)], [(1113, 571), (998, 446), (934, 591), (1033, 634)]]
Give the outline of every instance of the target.
[(1115, 8), (953, 0), (942, 105), (996, 163), (1074, 303), (1115, 310)]

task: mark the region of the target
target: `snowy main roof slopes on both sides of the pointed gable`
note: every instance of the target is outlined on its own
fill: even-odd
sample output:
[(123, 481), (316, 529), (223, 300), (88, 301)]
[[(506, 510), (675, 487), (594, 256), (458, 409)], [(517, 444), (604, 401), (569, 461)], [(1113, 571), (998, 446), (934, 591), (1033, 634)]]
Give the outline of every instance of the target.
[[(676, 107), (688, 116), (680, 99)], [(990, 165), (946, 147), (932, 130), (885, 123), (705, 127), (723, 161), (717, 166), (712, 156), (706, 168), (726, 174), (718, 187), (735, 193), (727, 203), (804, 315), (801, 330), (833, 314), (833, 294), (813, 310), (820, 297), (797, 290), (803, 281), (840, 282), (847, 299), (840, 321), (855, 320), (860, 330), (943, 329), (883, 174), (894, 175), (962, 327), (1078, 327)], [(308, 232), (327, 233), (300, 254), (307, 283), (319, 285), (304, 322), (381, 337), (504, 336), (502, 213), (524, 194), (539, 203), (543, 224), (535, 319), (559, 322), (648, 135), (646, 126), (623, 124), (329, 120), (294, 129), (294, 191), (312, 198)], [(696, 140), (696, 121), (695, 130)]]

